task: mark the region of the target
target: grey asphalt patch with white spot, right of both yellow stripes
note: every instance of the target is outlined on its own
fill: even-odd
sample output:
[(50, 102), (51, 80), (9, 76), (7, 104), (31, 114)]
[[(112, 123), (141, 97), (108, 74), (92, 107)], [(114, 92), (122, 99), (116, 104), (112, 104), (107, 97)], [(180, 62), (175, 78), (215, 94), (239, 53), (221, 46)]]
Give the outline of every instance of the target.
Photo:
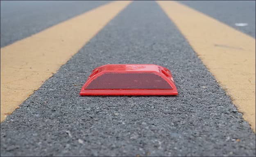
[[(179, 2), (255, 38), (255, 0), (181, 0)], [(236, 26), (236, 23), (248, 25), (240, 27)]]

